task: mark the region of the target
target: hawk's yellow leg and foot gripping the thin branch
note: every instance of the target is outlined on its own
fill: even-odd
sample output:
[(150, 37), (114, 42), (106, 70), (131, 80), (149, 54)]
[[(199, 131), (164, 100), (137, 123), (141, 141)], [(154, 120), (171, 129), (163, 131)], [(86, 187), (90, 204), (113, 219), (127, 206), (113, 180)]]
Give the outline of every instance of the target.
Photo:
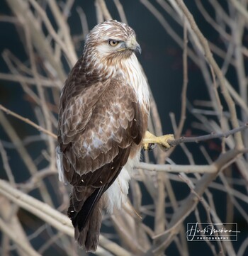
[(171, 145), (169, 145), (168, 140), (174, 140), (173, 134), (167, 134), (163, 136), (156, 137), (152, 133), (150, 133), (148, 130), (145, 132), (145, 137), (143, 139), (143, 148), (144, 150), (149, 150), (151, 144), (158, 144), (162, 150), (168, 150), (171, 148)]

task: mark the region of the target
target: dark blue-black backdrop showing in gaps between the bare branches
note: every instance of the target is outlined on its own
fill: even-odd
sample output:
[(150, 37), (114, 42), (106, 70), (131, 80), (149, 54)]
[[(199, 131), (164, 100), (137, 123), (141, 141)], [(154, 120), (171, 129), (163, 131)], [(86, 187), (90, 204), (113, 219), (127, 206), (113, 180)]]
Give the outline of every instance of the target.
[[(108, 10), (110, 11), (113, 18), (120, 20), (118, 16), (118, 11), (115, 9), (115, 5), (112, 1), (106, 1), (108, 4)], [(121, 1), (123, 8), (125, 10), (125, 15), (128, 19), (129, 25), (135, 30), (137, 34), (137, 40), (142, 47), (142, 55), (138, 56), (142, 67), (145, 69), (154, 99), (157, 103), (157, 108), (162, 120), (163, 133), (173, 133), (171, 127), (171, 121), (169, 118), (169, 112), (173, 112), (176, 116), (176, 121), (179, 122), (180, 111), (181, 111), (181, 87), (183, 84), (183, 66), (182, 66), (182, 50), (177, 45), (174, 40), (164, 31), (164, 28), (159, 24), (156, 18), (148, 11), (145, 6), (143, 6), (140, 1)], [(151, 1), (154, 6), (162, 12), (164, 18), (171, 24), (171, 27), (179, 35), (183, 35), (183, 30), (181, 26), (175, 23), (171, 16), (165, 13), (162, 8), (156, 3), (156, 1)], [(224, 2), (224, 1), (223, 1)], [(185, 1), (188, 9), (193, 13), (196, 22), (203, 32), (203, 35), (211, 42), (218, 45), (220, 48), (223, 46), (218, 38), (218, 33), (210, 27), (210, 25), (203, 19), (199, 13), (194, 1)], [(225, 5), (225, 3), (222, 3)], [(75, 1), (74, 6), (80, 5), (84, 12), (86, 13), (86, 18), (89, 24), (89, 29), (96, 25), (96, 12), (94, 1)], [(208, 3), (205, 3), (205, 8), (208, 9), (210, 16), (214, 15), (214, 11)], [(225, 7), (226, 8), (226, 7)], [(0, 14), (1, 15), (11, 15), (11, 12), (5, 1), (0, 2)], [(81, 25), (79, 21), (79, 16), (76, 13), (75, 8), (72, 9), (72, 15), (69, 17), (69, 26), (72, 35), (78, 35), (81, 33)], [(20, 40), (20, 36), (16, 30), (16, 27), (11, 23), (0, 22), (0, 52), (5, 49), (9, 49), (23, 62), (27, 61), (27, 55), (25, 49)], [(77, 49), (77, 54), (81, 55), (84, 42), (81, 42), (79, 48)], [(215, 56), (218, 63), (221, 60)], [(0, 72), (9, 72), (4, 63), (3, 58), (0, 56)], [(67, 69), (69, 72), (69, 68)], [(232, 84), (237, 85), (235, 80), (235, 73), (230, 70), (227, 73), (227, 79), (230, 79)], [(188, 91), (187, 98), (188, 101), (193, 104), (194, 100), (209, 100), (208, 91), (206, 90), (204, 80), (201, 74), (201, 70), (188, 59)], [(21, 116), (25, 116), (30, 120), (35, 121), (35, 115), (33, 113), (32, 105), (26, 100), (26, 96), (18, 83), (0, 81), (0, 104), (6, 106), (6, 108), (11, 109)], [(25, 140), (28, 135), (35, 135), (37, 131), (28, 126), (26, 123), (18, 121), (16, 118), (7, 116), (9, 121), (16, 127), (18, 135)], [(187, 119), (184, 125), (185, 133), (190, 133), (191, 135), (201, 135), (203, 132), (201, 130), (196, 130), (191, 127), (191, 123), (195, 121), (193, 115), (187, 111)], [(9, 143), (9, 138), (4, 132), (3, 128), (0, 126), (0, 140), (4, 143), (4, 146), (8, 152), (8, 157), (11, 162), (11, 168), (16, 177), (16, 182), (24, 182), (28, 179), (29, 174), (23, 172), (22, 169), (25, 168), (22, 160), (18, 156), (16, 150)], [(205, 143), (208, 145), (209, 142)], [(215, 140), (213, 140), (215, 145)], [(218, 140), (216, 143), (220, 144)], [(40, 155), (40, 150), (43, 149), (44, 145), (30, 144), (28, 149), (32, 150), (33, 159), (36, 159)], [(189, 150), (191, 150), (196, 164), (207, 164), (203, 156), (198, 150), (198, 145), (188, 145)], [(220, 154), (220, 148), (212, 147), (210, 148), (210, 155), (214, 160)], [(188, 164), (188, 160), (181, 150), (176, 150), (171, 158), (179, 165)], [(40, 162), (39, 167), (44, 167), (45, 162)], [(0, 159), (0, 178), (6, 179), (5, 172)], [(184, 199), (189, 190), (186, 186), (182, 186), (181, 183), (172, 182), (173, 186), (177, 189), (176, 197), (181, 200)], [(211, 191), (211, 190), (210, 190)], [(225, 194), (220, 192), (216, 193), (213, 191), (214, 200), (218, 202), (216, 204), (217, 212), (222, 220), (225, 220)], [(1, 207), (1, 206), (0, 206)], [(201, 210), (201, 206), (199, 207)], [(202, 209), (203, 210), (203, 209)], [(204, 211), (202, 211), (204, 212)], [(203, 213), (204, 214), (204, 213)], [(202, 215), (202, 219), (204, 219)], [(195, 220), (193, 214), (189, 216), (185, 223), (193, 222)], [(149, 221), (149, 220), (148, 220)], [(207, 219), (205, 218), (205, 221)], [(244, 238), (247, 237), (247, 223), (244, 221), (240, 222), (240, 216), (235, 213), (235, 221), (238, 223), (238, 228), (241, 231), (239, 238), (236, 243), (234, 243), (235, 249), (239, 247)], [(151, 225), (152, 225), (152, 221)], [(225, 222), (225, 221), (223, 221)], [(38, 241), (36, 241), (38, 243)], [(209, 255), (210, 249), (205, 243), (191, 242), (188, 243), (189, 251), (191, 255)], [(167, 250), (167, 255), (175, 255), (174, 248), (169, 247)]]

